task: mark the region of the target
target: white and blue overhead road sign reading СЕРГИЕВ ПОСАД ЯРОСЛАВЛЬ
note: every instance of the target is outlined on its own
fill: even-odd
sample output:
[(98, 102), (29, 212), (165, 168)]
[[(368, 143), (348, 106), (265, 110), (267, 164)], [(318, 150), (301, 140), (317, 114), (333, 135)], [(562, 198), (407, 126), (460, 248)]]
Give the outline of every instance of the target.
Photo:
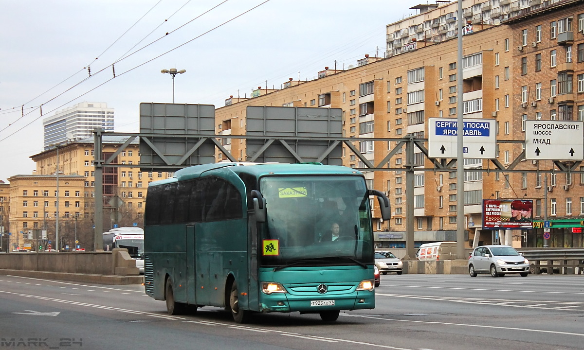
[[(463, 153), (465, 158), (495, 159), (496, 132), (494, 119), (467, 118), (463, 120)], [(430, 158), (458, 156), (458, 120), (429, 118), (428, 155)]]

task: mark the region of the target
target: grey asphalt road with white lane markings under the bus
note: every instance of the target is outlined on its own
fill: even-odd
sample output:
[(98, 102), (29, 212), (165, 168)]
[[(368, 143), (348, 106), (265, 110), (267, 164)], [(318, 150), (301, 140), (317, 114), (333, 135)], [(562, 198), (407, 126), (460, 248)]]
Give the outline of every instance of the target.
[(382, 275), (374, 310), (324, 324), (217, 307), (169, 316), (142, 286), (0, 275), (4, 349), (582, 349), (584, 276)]

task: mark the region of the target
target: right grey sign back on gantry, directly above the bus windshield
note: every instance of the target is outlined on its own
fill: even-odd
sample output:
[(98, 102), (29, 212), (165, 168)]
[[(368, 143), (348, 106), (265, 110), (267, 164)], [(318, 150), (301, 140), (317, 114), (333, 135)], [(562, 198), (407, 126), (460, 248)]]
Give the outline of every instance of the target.
[[(246, 111), (246, 135), (267, 138), (342, 137), (342, 109), (311, 107), (249, 106)], [(333, 141), (284, 139), (304, 162), (316, 162)], [(248, 139), (248, 159), (258, 155), (265, 139)], [(342, 143), (321, 160), (324, 164), (342, 165)], [(256, 162), (297, 163), (298, 159), (280, 141), (274, 141), (255, 159)]]

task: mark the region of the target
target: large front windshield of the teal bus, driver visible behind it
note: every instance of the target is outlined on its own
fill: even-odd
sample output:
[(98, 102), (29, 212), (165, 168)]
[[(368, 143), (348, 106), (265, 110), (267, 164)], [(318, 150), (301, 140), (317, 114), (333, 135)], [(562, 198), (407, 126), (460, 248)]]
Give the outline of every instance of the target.
[(369, 196), (362, 177), (263, 177), (266, 225), (260, 264), (354, 265), (373, 262)]

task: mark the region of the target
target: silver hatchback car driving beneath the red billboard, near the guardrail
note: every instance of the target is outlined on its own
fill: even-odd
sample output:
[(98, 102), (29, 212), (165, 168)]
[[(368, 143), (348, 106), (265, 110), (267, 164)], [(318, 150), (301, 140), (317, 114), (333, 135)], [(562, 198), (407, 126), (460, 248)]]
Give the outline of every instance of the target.
[(468, 258), (468, 274), (491, 274), (492, 277), (505, 274), (529, 274), (529, 260), (510, 246), (480, 246)]

